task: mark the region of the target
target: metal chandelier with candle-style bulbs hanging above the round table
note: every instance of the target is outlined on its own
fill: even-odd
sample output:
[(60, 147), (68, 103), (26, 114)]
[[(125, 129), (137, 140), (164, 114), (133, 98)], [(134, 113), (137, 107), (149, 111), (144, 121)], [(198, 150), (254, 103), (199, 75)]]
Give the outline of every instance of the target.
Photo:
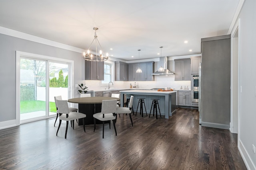
[[(83, 55), (84, 55), (83, 58), (85, 60), (88, 60), (88, 61), (106, 61), (106, 60), (108, 60), (108, 53), (106, 53), (106, 55), (105, 55), (105, 53), (102, 51), (102, 47), (101, 47), (100, 42), (98, 41), (98, 38), (97, 38), (97, 35), (96, 35), (96, 31), (98, 30), (98, 28), (94, 27), (93, 29), (95, 30), (95, 32), (94, 32), (94, 39), (92, 40), (92, 43), (95, 40), (96, 55), (93, 55), (92, 53), (90, 53), (90, 47), (92, 46), (92, 43), (91, 43), (91, 45), (89, 46), (87, 52), (83, 53)], [(100, 51), (99, 51), (100, 55), (98, 55), (97, 45), (100, 45)]]

